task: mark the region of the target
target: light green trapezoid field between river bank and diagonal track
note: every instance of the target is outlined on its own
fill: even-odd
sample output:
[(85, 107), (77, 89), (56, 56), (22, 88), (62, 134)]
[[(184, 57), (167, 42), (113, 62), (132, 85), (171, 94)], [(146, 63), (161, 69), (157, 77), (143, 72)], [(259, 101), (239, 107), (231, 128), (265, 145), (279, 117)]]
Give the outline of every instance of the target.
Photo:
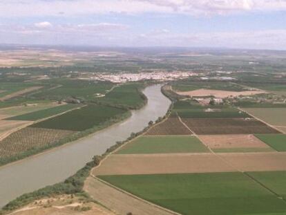
[(208, 152), (194, 136), (140, 136), (117, 153), (191, 153)]

